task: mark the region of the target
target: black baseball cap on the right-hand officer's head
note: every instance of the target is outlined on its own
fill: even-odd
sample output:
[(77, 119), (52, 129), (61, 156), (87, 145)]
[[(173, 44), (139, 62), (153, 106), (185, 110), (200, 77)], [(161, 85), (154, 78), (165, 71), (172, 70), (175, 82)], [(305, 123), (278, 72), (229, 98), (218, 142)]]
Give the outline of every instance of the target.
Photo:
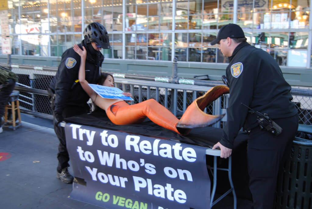
[(223, 27), (218, 32), (217, 38), (213, 40), (210, 44), (215, 45), (216, 43), (219, 43), (221, 39), (224, 38), (243, 38), (245, 37), (243, 29), (239, 25), (230, 23)]

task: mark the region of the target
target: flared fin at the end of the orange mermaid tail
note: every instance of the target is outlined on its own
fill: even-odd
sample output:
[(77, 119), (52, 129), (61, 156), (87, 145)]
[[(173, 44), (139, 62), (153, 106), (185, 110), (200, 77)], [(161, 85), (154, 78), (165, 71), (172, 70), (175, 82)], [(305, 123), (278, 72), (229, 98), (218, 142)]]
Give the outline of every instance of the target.
[(207, 91), (203, 96), (195, 99), (186, 109), (183, 116), (176, 125), (177, 128), (196, 128), (206, 127), (212, 125), (222, 119), (222, 115), (210, 115), (203, 110), (211, 102), (222, 96), (222, 94), (229, 93), (229, 88), (226, 86), (215, 86)]

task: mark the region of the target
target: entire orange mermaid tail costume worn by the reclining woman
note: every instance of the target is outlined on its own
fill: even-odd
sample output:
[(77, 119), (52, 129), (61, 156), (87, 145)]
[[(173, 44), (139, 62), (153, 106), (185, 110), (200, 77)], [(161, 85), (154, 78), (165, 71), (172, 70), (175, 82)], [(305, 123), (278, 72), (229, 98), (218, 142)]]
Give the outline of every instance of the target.
[[(216, 87), (213, 87), (212, 89), (214, 88)], [(205, 105), (204, 103), (205, 102), (210, 103), (215, 99), (217, 99), (218, 97), (220, 97), (223, 94), (222, 90), (223, 92), (228, 93), (228, 88), (227, 89), (216, 88), (215, 90), (217, 91), (209, 90), (207, 93), (209, 92), (214, 93), (209, 94), (206, 93), (205, 95), (202, 96), (202, 97), (205, 96), (214, 97), (210, 99), (207, 98), (201, 99), (201, 102), (199, 103), (200, 106), (203, 107), (203, 109), (208, 104), (207, 103)], [(197, 104), (196, 101), (202, 97), (198, 97), (194, 102)], [(191, 107), (193, 103), (189, 107)], [(110, 121), (116, 125), (139, 124), (142, 123), (146, 117), (148, 117), (151, 121), (153, 121), (157, 125), (172, 130), (174, 132), (177, 132), (178, 134), (181, 135), (187, 135), (191, 131), (193, 123), (195, 123), (194, 127), (204, 127), (221, 120), (221, 118), (224, 116), (224, 115), (220, 116), (208, 115), (202, 112), (203, 109), (200, 110), (200, 113), (196, 114), (196, 111), (198, 111), (197, 108), (194, 109), (189, 107), (182, 116), (183, 118), (182, 123), (180, 123), (182, 118), (179, 121), (179, 119), (175, 117), (166, 107), (162, 106), (154, 99), (149, 99), (134, 105), (129, 105), (124, 101), (116, 102), (106, 110), (106, 114), (109, 117)], [(193, 119), (187, 119), (187, 117), (193, 117)], [(198, 121), (204, 123), (204, 125), (198, 126)], [(178, 126), (179, 123), (182, 125)]]

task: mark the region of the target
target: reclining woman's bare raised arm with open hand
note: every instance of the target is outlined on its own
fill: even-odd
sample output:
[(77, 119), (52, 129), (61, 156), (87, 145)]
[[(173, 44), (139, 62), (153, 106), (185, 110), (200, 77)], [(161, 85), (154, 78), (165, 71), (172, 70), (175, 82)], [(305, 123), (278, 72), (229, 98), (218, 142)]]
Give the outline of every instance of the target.
[(85, 59), (87, 57), (87, 50), (85, 50), (85, 47), (82, 46), (83, 50), (81, 50), (77, 44), (74, 45), (73, 49), (74, 51), (80, 55), (81, 57), (81, 62), (80, 62), (80, 67), (79, 67), (79, 74), (78, 74), (78, 79), (79, 82), (85, 90), (85, 92), (89, 95), (89, 97), (94, 101), (96, 97), (95, 91), (88, 85), (89, 82), (85, 80)]

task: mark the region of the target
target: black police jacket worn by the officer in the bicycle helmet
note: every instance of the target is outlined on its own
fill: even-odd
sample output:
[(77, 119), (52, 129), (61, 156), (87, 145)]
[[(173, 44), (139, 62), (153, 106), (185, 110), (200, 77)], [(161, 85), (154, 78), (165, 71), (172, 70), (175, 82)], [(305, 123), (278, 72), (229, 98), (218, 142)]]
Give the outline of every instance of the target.
[[(88, 44), (90, 45), (90, 44)], [(95, 84), (100, 77), (100, 69), (104, 56), (101, 52), (92, 55), (89, 47), (82, 40), (78, 46), (87, 50), (85, 62), (85, 80)], [(94, 50), (94, 49), (93, 49)], [(51, 80), (50, 88), (56, 93), (54, 112), (61, 115), (66, 105), (76, 105), (84, 107), (89, 100), (88, 94), (83, 90), (78, 82), (80, 67), (80, 55), (73, 48), (67, 49), (61, 58), (61, 63), (56, 72), (56, 76)]]

